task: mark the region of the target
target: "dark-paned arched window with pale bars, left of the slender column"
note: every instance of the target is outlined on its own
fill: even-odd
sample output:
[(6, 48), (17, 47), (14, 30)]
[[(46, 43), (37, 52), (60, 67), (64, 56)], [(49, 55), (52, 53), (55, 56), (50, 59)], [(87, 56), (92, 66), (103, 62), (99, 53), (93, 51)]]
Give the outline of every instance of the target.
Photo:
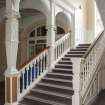
[(34, 30), (29, 34), (28, 39), (29, 58), (34, 57), (40, 51), (46, 47), (46, 27), (41, 25), (35, 27)]

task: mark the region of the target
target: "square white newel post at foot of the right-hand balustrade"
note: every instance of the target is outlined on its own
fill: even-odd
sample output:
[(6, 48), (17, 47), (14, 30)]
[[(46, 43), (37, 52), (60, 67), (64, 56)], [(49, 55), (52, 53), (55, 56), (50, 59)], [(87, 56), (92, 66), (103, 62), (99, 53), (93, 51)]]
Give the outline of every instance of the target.
[(73, 63), (73, 90), (72, 105), (81, 105), (81, 58), (71, 58)]

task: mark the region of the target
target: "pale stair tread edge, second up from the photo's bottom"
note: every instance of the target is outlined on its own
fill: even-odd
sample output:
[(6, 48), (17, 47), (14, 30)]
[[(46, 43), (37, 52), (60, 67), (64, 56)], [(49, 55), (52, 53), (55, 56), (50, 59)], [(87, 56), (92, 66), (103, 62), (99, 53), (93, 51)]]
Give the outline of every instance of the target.
[(32, 92), (39, 92), (39, 93), (42, 93), (42, 94), (47, 94), (47, 95), (53, 95), (53, 96), (58, 96), (58, 97), (62, 97), (62, 98), (72, 99), (72, 97), (68, 96), (68, 95), (64, 95), (64, 94), (61, 94), (61, 93), (50, 92), (50, 91), (41, 90), (41, 89), (32, 89)]

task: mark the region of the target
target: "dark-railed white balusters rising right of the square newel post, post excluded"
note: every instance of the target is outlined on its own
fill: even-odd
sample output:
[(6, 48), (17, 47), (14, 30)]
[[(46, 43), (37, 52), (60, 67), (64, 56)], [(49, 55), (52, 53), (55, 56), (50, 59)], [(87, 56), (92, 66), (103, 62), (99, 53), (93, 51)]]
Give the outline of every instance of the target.
[(101, 60), (103, 51), (105, 50), (104, 42), (105, 36), (104, 32), (102, 32), (84, 56), (84, 60), (81, 64), (82, 96), (84, 96), (87, 86), (91, 82), (90, 78), (93, 77), (95, 71), (97, 70), (97, 66)]

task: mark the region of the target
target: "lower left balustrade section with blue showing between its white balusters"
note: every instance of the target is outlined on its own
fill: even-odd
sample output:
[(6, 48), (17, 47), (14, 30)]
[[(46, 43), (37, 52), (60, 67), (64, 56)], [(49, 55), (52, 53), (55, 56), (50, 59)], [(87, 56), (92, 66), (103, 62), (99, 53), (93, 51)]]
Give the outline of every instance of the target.
[(34, 82), (47, 72), (48, 48), (19, 68), (18, 99), (21, 99), (34, 84)]

